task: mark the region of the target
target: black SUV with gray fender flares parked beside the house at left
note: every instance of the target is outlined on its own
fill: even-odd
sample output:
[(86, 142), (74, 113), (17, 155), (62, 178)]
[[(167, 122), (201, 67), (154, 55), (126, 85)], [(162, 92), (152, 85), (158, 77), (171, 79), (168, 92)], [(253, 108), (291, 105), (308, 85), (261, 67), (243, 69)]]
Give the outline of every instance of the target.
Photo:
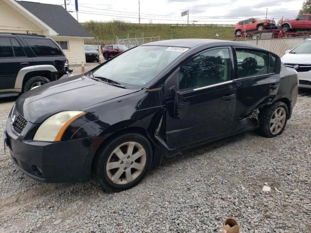
[(0, 33), (0, 97), (18, 96), (69, 72), (64, 52), (51, 38)]

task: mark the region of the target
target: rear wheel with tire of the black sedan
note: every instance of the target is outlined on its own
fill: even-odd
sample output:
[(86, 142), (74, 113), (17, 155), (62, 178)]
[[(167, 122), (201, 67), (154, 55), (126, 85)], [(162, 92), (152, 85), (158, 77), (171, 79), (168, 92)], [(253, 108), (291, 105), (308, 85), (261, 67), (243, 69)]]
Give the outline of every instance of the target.
[(275, 137), (284, 131), (287, 119), (287, 105), (275, 102), (259, 112), (258, 133), (265, 137)]

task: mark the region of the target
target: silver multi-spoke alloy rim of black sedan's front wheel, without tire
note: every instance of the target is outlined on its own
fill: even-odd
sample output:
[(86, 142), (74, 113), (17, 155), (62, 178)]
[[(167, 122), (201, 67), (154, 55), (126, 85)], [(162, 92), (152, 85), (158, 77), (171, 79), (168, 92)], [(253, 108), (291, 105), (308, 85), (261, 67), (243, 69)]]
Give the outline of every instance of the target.
[(147, 155), (138, 142), (125, 142), (110, 154), (106, 173), (109, 180), (116, 184), (133, 182), (145, 168)]

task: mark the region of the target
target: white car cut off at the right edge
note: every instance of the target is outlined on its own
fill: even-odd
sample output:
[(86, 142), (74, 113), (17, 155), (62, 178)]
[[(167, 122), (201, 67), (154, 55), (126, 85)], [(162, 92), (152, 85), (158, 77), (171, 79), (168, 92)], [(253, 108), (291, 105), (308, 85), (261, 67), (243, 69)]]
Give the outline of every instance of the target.
[(311, 88), (311, 39), (301, 42), (293, 50), (287, 50), (281, 60), (286, 67), (298, 72), (299, 87)]

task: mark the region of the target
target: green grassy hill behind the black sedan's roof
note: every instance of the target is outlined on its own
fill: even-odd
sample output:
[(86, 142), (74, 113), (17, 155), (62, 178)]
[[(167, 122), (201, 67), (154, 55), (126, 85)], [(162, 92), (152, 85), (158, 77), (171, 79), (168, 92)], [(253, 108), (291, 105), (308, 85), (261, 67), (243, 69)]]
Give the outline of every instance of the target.
[[(82, 25), (96, 38), (102, 40), (103, 44), (114, 43), (115, 36), (120, 39), (161, 36), (161, 39), (180, 38), (208, 38), (233, 40), (234, 27), (209, 26), (180, 26), (171, 24), (138, 24), (123, 21), (94, 22), (89, 21)], [(216, 36), (216, 33), (219, 36)]]

